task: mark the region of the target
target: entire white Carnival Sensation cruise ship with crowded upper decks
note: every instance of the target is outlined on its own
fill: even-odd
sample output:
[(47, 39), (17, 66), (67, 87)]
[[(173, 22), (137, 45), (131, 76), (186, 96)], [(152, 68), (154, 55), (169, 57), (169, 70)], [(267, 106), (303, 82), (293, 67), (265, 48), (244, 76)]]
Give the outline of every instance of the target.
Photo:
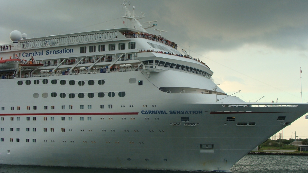
[(12, 31), (0, 51), (0, 164), (229, 171), (308, 111), (227, 95), (209, 66), (122, 5), (125, 28)]

